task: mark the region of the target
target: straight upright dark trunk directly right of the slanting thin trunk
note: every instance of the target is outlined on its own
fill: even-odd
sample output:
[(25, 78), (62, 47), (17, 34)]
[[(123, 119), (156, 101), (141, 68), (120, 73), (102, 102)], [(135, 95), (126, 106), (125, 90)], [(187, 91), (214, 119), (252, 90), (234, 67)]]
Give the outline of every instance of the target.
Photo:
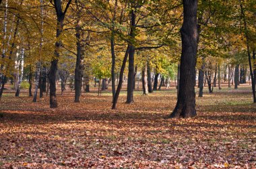
[(134, 40), (135, 40), (135, 11), (131, 10), (131, 31), (130, 38), (131, 43), (129, 44), (129, 72), (128, 72), (128, 82), (127, 82), (127, 101), (126, 103), (133, 103), (133, 87), (134, 87)]

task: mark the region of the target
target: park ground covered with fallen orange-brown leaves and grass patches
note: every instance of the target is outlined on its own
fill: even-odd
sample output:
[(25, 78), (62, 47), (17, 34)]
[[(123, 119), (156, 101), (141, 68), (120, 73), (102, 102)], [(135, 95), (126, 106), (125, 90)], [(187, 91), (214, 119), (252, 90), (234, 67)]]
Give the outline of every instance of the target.
[(73, 93), (32, 103), (27, 93), (0, 101), (0, 168), (256, 168), (256, 105), (250, 87), (214, 89), (197, 97), (197, 117), (166, 119), (176, 90), (117, 110), (111, 94)]

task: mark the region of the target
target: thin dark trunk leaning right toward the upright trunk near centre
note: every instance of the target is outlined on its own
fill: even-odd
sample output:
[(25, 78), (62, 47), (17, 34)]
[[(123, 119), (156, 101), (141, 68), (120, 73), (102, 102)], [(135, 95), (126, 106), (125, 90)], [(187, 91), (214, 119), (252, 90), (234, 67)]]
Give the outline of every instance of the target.
[(117, 86), (117, 91), (115, 93), (115, 97), (113, 99), (112, 109), (117, 109), (117, 101), (118, 101), (119, 93), (121, 91), (122, 84), (123, 84), (123, 72), (125, 71), (125, 64), (127, 62), (128, 54), (129, 54), (129, 46), (127, 46), (127, 50), (125, 52), (125, 57), (123, 58), (123, 63), (122, 63), (122, 66), (121, 66), (120, 76), (119, 76), (119, 83), (118, 83), (118, 86)]

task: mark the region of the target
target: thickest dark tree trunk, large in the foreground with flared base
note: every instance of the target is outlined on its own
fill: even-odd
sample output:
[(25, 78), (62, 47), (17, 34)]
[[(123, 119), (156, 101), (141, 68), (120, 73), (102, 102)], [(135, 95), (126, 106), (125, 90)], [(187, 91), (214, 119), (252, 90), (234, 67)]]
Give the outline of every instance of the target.
[(193, 117), (195, 111), (195, 64), (197, 55), (197, 0), (183, 0), (181, 27), (181, 79), (177, 105), (170, 117)]

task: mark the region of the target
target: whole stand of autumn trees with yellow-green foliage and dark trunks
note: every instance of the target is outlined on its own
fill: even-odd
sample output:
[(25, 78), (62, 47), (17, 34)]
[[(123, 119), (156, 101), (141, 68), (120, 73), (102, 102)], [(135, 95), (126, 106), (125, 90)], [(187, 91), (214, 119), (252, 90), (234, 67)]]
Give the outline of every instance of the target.
[(221, 89), (222, 78), (235, 88), (250, 78), (256, 103), (255, 5), (251, 0), (0, 1), (0, 98), (13, 80), (18, 97), (28, 78), (33, 101), (38, 89), (40, 97), (49, 90), (50, 107), (56, 108), (60, 79), (61, 92), (69, 80), (79, 103), (94, 77), (102, 89), (111, 83), (117, 109), (124, 76), (130, 104), (141, 74), (144, 95), (157, 90), (158, 78), (160, 87), (177, 82), (170, 117), (196, 115), (196, 80), (203, 97), (205, 84), (212, 93), (217, 81)]

